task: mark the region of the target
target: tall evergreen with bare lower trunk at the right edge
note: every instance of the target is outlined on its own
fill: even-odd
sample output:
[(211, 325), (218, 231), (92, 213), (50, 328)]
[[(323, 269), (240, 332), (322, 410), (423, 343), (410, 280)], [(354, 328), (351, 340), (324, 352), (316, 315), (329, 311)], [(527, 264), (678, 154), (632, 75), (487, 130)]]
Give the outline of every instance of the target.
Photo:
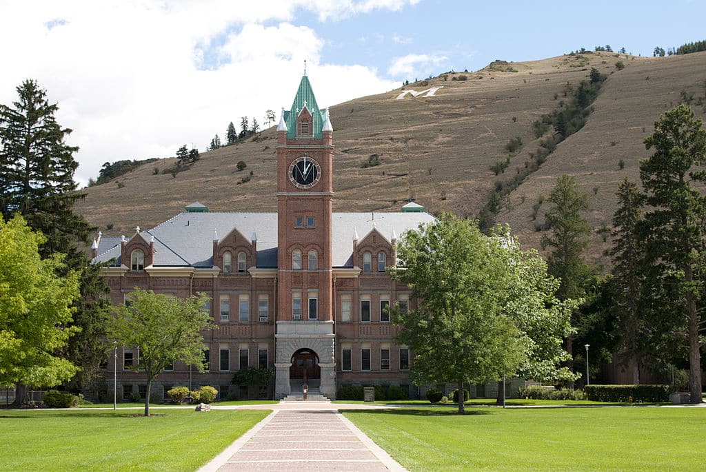
[(688, 352), (692, 403), (701, 403), (699, 332), (706, 274), (706, 130), (684, 104), (667, 111), (645, 138), (654, 154), (640, 162), (640, 179), (650, 210), (640, 234), (653, 294), (661, 294), (662, 329), (681, 333)]

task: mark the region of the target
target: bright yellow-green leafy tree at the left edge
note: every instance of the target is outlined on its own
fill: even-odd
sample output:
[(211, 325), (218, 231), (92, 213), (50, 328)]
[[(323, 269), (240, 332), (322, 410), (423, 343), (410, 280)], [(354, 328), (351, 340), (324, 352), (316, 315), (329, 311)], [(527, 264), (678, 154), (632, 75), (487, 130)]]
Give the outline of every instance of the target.
[(18, 385), (16, 404), (26, 403), (23, 386), (54, 386), (76, 373), (56, 351), (78, 330), (70, 326), (78, 275), (56, 275), (65, 272), (64, 254), (42, 258), (44, 240), (23, 217), (0, 218), (0, 383)]

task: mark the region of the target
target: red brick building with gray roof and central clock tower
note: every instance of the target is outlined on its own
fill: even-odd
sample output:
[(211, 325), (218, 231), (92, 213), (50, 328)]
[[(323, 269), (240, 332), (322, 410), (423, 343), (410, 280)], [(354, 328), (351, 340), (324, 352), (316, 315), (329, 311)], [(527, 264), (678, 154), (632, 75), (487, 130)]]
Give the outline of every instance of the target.
[[(130, 238), (99, 234), (94, 261), (113, 261), (103, 270), (112, 303), (129, 301), (135, 287), (179, 297), (205, 292), (212, 300), (207, 308), (219, 329), (205, 333), (208, 370), (175, 363), (152, 392), (213, 385), (221, 397), (279, 399), (306, 382), (333, 399), (341, 385), (411, 388), (411, 353), (394, 343), (385, 306), (413, 308), (414, 300), (385, 267), (396, 263), (397, 235), (433, 217), (416, 204), (334, 213), (333, 159), (328, 111), (318, 108), (305, 73), (277, 126), (277, 213), (209, 212), (197, 202)], [(118, 351), (124, 397), (144, 392), (140, 375), (125, 368), (138, 356)], [(234, 392), (232, 377), (246, 366), (274, 367), (274, 392)]]

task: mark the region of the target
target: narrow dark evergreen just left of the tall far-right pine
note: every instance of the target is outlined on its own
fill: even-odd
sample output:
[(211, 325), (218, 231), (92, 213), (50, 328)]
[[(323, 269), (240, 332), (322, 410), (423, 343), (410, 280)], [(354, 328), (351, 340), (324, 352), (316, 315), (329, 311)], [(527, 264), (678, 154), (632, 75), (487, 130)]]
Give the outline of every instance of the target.
[(642, 287), (642, 246), (638, 228), (644, 198), (634, 182), (626, 178), (618, 186), (618, 209), (613, 217), (613, 275), (616, 312), (620, 326), (623, 363), (633, 361), (633, 382), (640, 383), (638, 301)]

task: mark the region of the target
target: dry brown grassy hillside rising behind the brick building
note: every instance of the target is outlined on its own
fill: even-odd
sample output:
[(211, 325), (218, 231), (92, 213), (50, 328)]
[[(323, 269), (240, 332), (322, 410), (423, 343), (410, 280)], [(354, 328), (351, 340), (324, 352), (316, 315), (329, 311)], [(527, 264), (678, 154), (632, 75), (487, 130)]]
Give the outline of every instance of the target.
[[(618, 61), (624, 68), (616, 68)], [(615, 211), (618, 182), (638, 180), (638, 163), (649, 155), (642, 140), (654, 121), (690, 96), (691, 107), (704, 116), (704, 52), (657, 58), (594, 52), (496, 61), (481, 71), (443, 73), (405, 87), (419, 92), (443, 86), (433, 97), (398, 100), (402, 89), (397, 89), (335, 105), (330, 109), (336, 146), (334, 210), (395, 211), (415, 198), (430, 212), (477, 217), (493, 188), (531, 162), (530, 153), (539, 144), (532, 122), (567, 102), (567, 84), (578, 86), (592, 67), (607, 79), (586, 125), (505, 198), (496, 219), (508, 222), (525, 246), (538, 247), (546, 197), (556, 177), (572, 174), (590, 195), (594, 231), (589, 258), (605, 263), (610, 244), (609, 237), (604, 241), (605, 228)], [(292, 83), (292, 94), (295, 87)], [(517, 137), (522, 147), (496, 176), (491, 167), (505, 162), (505, 145)], [(370, 159), (379, 165), (363, 168)], [(241, 160), (247, 164), (244, 171), (236, 167)], [(161, 174), (175, 162), (160, 159), (88, 188), (78, 211), (104, 234), (117, 236), (131, 234), (136, 225), (155, 226), (197, 200), (211, 211), (276, 210), (275, 128), (203, 153), (176, 177)], [(251, 171), (251, 180), (239, 183)]]

